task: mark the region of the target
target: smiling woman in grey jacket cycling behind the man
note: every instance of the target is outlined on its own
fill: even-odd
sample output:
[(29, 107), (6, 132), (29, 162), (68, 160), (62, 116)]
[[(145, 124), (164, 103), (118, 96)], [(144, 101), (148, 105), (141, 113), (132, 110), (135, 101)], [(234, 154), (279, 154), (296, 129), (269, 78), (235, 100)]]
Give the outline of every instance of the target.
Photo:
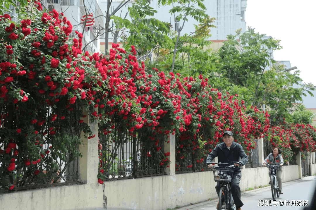
[[(265, 167), (266, 164), (270, 164), (270, 165), (280, 165), (280, 167), (282, 167), (284, 165), (284, 161), (281, 155), (281, 150), (279, 147), (274, 147), (273, 148), (273, 152), (270, 153), (268, 155), (268, 157), (266, 157), (264, 159), (264, 164), (263, 167)], [(269, 177), (271, 178), (271, 171), (269, 170)], [(277, 180), (277, 185), (279, 187), (279, 193), (283, 194), (282, 192), (282, 168), (277, 170), (276, 173), (276, 180)], [(269, 181), (269, 184), (271, 181)]]

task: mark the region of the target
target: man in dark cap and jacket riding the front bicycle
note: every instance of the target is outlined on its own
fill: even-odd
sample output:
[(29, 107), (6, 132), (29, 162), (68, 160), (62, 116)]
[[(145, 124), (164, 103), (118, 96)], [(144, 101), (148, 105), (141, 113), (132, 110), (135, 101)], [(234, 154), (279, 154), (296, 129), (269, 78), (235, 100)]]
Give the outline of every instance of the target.
[[(236, 166), (234, 168), (234, 174), (232, 177), (231, 182), (231, 190), (233, 199), (236, 205), (237, 210), (241, 210), (240, 207), (242, 207), (244, 204), (240, 200), (240, 178), (241, 178), (241, 170), (240, 166), (245, 165), (248, 162), (248, 156), (245, 154), (243, 148), (240, 144), (234, 142), (234, 136), (231, 131), (225, 131), (223, 134), (223, 140), (224, 142), (218, 144), (213, 151), (208, 155), (206, 159), (206, 164), (209, 168), (211, 168), (213, 165), (212, 160), (216, 157), (218, 157), (218, 162), (221, 163), (229, 163), (229, 162), (240, 162), (240, 164), (234, 163)], [(241, 158), (241, 160), (239, 160)], [(216, 184), (216, 192), (217, 195), (219, 195), (219, 182)], [(219, 202), (217, 203), (216, 209), (219, 209)]]

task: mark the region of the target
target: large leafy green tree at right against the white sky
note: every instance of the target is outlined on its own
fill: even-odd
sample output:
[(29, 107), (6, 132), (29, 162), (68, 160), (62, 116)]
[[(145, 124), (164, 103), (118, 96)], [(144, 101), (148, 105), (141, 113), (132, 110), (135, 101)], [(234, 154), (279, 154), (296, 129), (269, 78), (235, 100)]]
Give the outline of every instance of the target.
[(242, 90), (240, 88), (245, 87), (248, 92), (240, 96), (247, 99), (246, 105), (265, 105), (272, 124), (283, 122), (284, 117), (292, 112), (293, 104), (302, 101), (302, 95), (313, 95), (310, 91), (313, 90), (312, 84), (301, 84), (299, 71), (294, 74), (282, 72), (285, 66), (277, 65), (272, 59), (272, 52), (282, 48), (280, 40), (255, 33), (250, 27), (245, 33), (240, 34), (239, 30), (236, 34), (229, 35), (228, 41), (214, 52), (214, 57), (218, 57), (214, 61), (217, 79), (211, 81), (223, 85), (221, 88), (228, 86)]

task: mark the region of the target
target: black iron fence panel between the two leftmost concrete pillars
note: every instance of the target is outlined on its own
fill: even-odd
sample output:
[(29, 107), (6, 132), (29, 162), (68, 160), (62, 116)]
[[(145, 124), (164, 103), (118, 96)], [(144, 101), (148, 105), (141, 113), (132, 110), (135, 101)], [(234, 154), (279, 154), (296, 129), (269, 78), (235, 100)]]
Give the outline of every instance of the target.
[(155, 135), (156, 147), (145, 132), (129, 135), (127, 131), (114, 130), (100, 138), (99, 168), (106, 174), (105, 181), (166, 174), (165, 165), (160, 162), (165, 138)]

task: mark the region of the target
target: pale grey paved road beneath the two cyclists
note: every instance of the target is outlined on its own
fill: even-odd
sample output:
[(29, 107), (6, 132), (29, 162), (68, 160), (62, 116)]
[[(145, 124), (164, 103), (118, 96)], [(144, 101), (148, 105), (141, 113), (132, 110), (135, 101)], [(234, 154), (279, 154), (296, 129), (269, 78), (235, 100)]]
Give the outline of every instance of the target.
[[(279, 209), (295, 209), (302, 210), (304, 207), (298, 207), (297, 205), (291, 206), (291, 201), (308, 201), (312, 202), (312, 195), (316, 189), (316, 177), (309, 176), (304, 177), (302, 179), (298, 179), (291, 182), (283, 183), (283, 195), (280, 195), (279, 198), (276, 199), (277, 206), (275, 206), (271, 201), (271, 206), (267, 206), (268, 204), (261, 204), (259, 206), (259, 200), (272, 200), (271, 188), (265, 187), (261, 189), (255, 189), (251, 191), (243, 192), (241, 195), (241, 200), (244, 203), (242, 207), (243, 210), (251, 209), (251, 210), (279, 210)], [(289, 201), (289, 206), (280, 206), (283, 202)], [(177, 210), (213, 210), (216, 209), (218, 199), (212, 201), (206, 201), (199, 204), (194, 204), (187, 207), (181, 207)]]

